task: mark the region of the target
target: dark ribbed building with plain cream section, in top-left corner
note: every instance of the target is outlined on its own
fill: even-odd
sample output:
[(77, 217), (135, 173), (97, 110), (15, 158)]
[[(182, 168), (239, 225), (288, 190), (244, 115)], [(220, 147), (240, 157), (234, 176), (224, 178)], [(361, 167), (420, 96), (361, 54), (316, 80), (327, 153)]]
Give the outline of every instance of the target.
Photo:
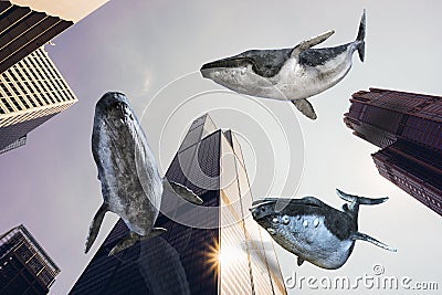
[(0, 0), (0, 73), (108, 0)]

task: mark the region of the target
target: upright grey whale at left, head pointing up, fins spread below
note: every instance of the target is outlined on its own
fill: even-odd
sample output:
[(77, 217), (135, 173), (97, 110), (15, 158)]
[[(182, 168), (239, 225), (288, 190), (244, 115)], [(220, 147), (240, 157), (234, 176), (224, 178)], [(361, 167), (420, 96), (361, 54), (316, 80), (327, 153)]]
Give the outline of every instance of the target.
[(103, 203), (92, 221), (85, 253), (94, 243), (108, 211), (119, 215), (129, 229), (127, 236), (109, 252), (114, 255), (139, 240), (166, 231), (154, 228), (164, 191), (192, 203), (202, 203), (186, 187), (160, 177), (146, 135), (123, 93), (108, 92), (96, 103), (92, 154), (102, 183)]

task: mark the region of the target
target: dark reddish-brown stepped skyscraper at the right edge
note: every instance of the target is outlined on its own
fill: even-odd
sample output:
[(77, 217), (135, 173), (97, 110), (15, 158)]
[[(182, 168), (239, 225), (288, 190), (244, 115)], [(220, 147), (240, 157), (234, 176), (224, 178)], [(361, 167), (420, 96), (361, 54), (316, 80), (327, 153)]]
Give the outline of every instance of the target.
[(442, 97), (370, 88), (350, 102), (344, 122), (382, 148), (379, 173), (442, 215)]

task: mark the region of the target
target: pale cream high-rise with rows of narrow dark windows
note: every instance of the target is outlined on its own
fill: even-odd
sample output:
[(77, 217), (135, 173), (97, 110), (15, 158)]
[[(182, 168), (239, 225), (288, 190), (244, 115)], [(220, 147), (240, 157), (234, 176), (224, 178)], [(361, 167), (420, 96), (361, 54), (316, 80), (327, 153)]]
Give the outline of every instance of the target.
[(76, 102), (43, 48), (9, 67), (0, 74), (0, 154)]

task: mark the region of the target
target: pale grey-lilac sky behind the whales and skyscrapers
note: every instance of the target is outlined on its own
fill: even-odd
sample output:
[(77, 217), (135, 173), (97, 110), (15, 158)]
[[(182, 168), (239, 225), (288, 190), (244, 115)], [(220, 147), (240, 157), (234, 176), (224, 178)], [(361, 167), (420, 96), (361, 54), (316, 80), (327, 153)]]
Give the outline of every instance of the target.
[[(349, 74), (309, 99), (316, 120), (290, 103), (227, 92), (198, 73), (203, 63), (250, 49), (295, 46), (329, 29), (336, 33), (318, 48), (347, 43), (356, 38), (364, 8), (366, 61), (355, 54)], [(309, 263), (298, 267), (296, 256), (275, 245), (284, 277), (355, 280), (381, 266), (385, 275), (442, 288), (441, 218), (379, 176), (370, 157), (378, 148), (343, 123), (359, 89), (441, 94), (441, 9), (440, 1), (107, 2), (46, 46), (78, 103), (32, 131), (24, 147), (0, 157), (0, 232), (23, 223), (62, 270), (50, 294), (71, 289), (117, 220), (106, 214), (85, 255), (90, 222), (102, 202), (91, 152), (94, 107), (105, 92), (120, 91), (141, 120), (161, 175), (192, 120), (210, 112), (218, 127), (241, 138), (254, 198), (315, 196), (340, 208), (336, 188), (390, 197), (360, 208), (359, 230), (397, 253), (359, 241), (341, 268), (326, 271)], [(303, 285), (303, 294), (311, 291)]]

